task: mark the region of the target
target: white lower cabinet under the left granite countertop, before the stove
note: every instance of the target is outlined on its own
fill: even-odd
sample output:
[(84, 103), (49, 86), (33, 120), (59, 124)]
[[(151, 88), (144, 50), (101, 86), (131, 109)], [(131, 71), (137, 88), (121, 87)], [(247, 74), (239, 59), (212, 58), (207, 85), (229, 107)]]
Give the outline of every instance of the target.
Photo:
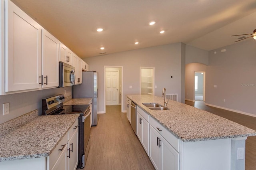
[(0, 162), (0, 170), (76, 170), (78, 119), (52, 150), (50, 156)]

